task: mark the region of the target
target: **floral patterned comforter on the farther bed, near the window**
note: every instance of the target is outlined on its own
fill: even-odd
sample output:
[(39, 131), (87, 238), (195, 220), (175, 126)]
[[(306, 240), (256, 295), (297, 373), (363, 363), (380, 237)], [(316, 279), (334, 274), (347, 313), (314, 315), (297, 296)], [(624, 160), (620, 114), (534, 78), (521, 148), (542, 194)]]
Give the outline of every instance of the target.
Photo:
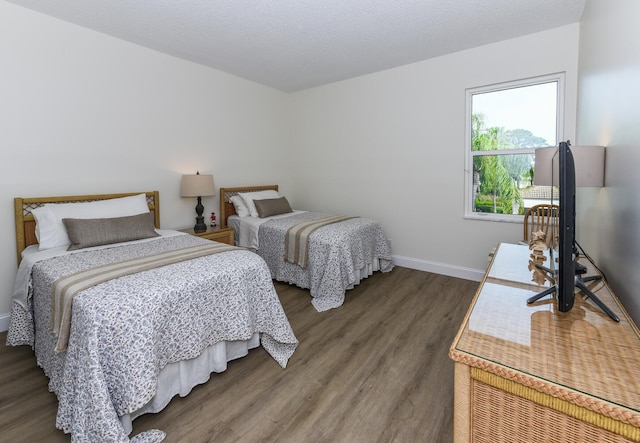
[(393, 269), (391, 249), (380, 224), (361, 217), (314, 231), (309, 237), (306, 268), (285, 261), (287, 230), (298, 223), (328, 216), (302, 212), (266, 221), (258, 231), (258, 254), (267, 262), (271, 277), (310, 289), (311, 303), (320, 312), (341, 306), (346, 290), (357, 284), (363, 274)]

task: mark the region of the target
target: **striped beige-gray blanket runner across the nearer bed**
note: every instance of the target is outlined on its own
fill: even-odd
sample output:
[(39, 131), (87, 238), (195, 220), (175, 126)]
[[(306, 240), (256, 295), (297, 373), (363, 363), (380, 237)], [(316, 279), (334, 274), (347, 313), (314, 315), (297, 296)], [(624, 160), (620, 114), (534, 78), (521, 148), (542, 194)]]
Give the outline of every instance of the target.
[(51, 299), (50, 329), (58, 338), (56, 352), (63, 352), (67, 349), (71, 328), (71, 307), (74, 297), (80, 291), (114, 278), (234, 249), (239, 248), (210, 242), (210, 244), (181, 248), (97, 266), (59, 278), (53, 284), (53, 297)]

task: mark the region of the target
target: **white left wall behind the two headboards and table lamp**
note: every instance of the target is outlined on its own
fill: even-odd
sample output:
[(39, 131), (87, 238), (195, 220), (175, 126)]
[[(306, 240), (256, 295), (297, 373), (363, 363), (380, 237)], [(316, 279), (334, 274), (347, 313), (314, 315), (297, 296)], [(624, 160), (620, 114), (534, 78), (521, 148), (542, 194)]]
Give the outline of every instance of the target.
[(0, 330), (14, 197), (159, 190), (162, 227), (193, 226), (183, 173), (287, 191), (286, 106), (274, 89), (0, 1)]

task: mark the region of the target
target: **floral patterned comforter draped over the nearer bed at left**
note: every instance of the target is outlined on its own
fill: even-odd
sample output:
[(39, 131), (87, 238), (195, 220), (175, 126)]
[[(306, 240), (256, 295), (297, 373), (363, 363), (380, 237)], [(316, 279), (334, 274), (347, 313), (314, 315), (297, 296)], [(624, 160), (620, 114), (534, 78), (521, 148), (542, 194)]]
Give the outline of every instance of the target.
[[(56, 426), (78, 442), (129, 441), (119, 416), (146, 404), (167, 364), (255, 332), (285, 367), (298, 341), (265, 262), (237, 250), (120, 277), (74, 299), (69, 346), (54, 352), (53, 282), (114, 261), (201, 244), (189, 235), (64, 255), (36, 263), (29, 306), (14, 303), (8, 344), (35, 346), (58, 396)], [(35, 323), (35, 337), (33, 324)]]

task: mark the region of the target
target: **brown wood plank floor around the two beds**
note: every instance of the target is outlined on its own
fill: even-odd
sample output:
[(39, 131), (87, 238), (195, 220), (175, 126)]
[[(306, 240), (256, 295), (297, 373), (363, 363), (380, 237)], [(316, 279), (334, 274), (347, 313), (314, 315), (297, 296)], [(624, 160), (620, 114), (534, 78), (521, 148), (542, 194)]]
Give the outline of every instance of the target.
[[(448, 349), (477, 282), (396, 267), (318, 313), (276, 283), (300, 345), (282, 369), (262, 348), (134, 422), (171, 442), (451, 442)], [(68, 442), (29, 347), (0, 334), (0, 441)]]

